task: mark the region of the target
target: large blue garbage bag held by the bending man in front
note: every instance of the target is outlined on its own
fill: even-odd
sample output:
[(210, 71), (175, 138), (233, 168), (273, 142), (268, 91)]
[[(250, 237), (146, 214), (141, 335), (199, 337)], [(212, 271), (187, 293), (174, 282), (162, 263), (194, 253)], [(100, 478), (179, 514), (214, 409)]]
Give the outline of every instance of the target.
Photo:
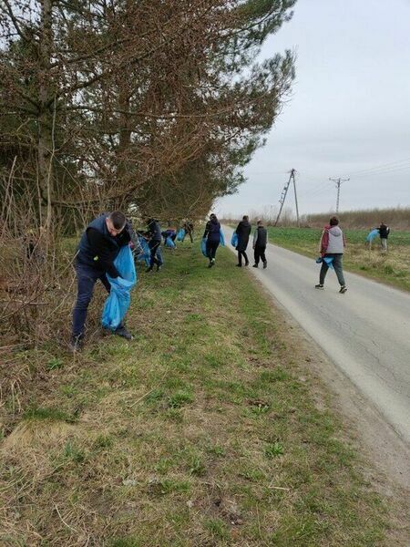
[(113, 278), (107, 274), (111, 291), (104, 304), (101, 319), (102, 325), (111, 330), (121, 325), (131, 302), (131, 289), (137, 283), (135, 265), (128, 245), (121, 247), (114, 264), (120, 277)]

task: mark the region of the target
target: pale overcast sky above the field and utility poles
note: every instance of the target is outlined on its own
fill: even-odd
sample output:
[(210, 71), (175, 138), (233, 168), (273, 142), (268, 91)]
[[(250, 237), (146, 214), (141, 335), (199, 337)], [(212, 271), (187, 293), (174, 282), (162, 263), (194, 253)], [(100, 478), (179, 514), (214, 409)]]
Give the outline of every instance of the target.
[[(298, 0), (261, 57), (297, 51), (292, 98), (248, 182), (221, 199), (220, 215), (278, 207), (298, 171), (300, 212), (410, 205), (410, 0)], [(285, 205), (293, 205), (288, 193)]]

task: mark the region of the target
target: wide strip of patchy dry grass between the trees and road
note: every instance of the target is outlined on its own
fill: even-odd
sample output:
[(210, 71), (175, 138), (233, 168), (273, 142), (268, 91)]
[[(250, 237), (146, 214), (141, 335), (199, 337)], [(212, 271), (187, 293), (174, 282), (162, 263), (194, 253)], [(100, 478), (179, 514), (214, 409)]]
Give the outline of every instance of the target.
[(0, 544), (384, 544), (384, 501), (266, 297), (227, 250), (166, 261), (130, 344), (15, 356), (37, 379), (3, 401)]

